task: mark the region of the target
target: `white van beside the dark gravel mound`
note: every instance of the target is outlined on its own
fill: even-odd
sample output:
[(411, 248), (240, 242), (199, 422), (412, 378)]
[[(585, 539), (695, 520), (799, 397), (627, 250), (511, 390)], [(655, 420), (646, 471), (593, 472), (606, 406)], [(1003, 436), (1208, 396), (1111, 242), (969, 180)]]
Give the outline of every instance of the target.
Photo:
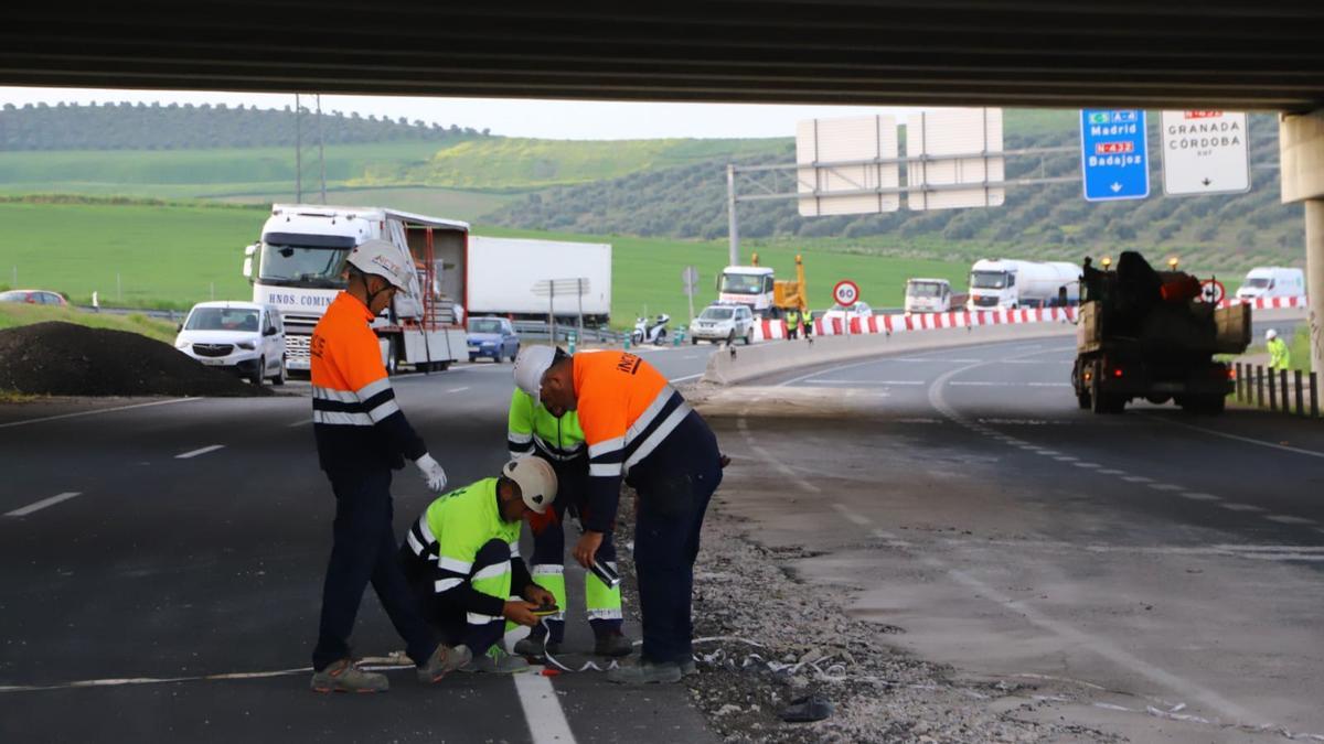
[(285, 323), (273, 304), (200, 302), (180, 324), (175, 348), (254, 385), (265, 379), (285, 384)]

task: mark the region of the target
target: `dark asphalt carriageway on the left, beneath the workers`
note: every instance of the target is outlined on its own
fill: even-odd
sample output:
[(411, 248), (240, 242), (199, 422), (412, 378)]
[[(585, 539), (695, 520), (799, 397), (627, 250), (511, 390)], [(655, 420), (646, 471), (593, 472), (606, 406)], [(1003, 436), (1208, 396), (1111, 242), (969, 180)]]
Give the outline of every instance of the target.
[[(686, 380), (707, 351), (642, 353)], [(498, 471), (510, 364), (396, 388), (451, 485)], [(434, 688), (404, 669), (387, 695), (308, 692), (334, 502), (307, 384), (286, 393), (0, 408), (0, 740), (708, 737), (683, 686), (622, 691), (594, 674), (457, 674)], [(430, 496), (412, 469), (392, 490), (402, 534)], [(583, 584), (567, 584), (573, 609)], [(573, 616), (569, 633), (591, 643)], [(401, 646), (369, 590), (356, 653)], [(230, 678), (201, 679), (213, 675)]]

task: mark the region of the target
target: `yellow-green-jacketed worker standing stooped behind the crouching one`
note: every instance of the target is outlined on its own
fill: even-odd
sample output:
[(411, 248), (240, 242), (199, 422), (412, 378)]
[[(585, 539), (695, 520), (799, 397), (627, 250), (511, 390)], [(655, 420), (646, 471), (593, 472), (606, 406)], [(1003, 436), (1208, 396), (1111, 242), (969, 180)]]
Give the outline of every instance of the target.
[[(549, 363), (564, 357), (565, 352), (552, 347), (530, 347), (520, 355), (515, 365), (519, 376), (522, 364)], [(545, 364), (544, 364), (545, 365)], [(507, 445), (511, 457), (536, 455), (556, 471), (557, 492), (552, 511), (545, 518), (530, 520), (534, 532), (534, 581), (547, 588), (556, 597), (556, 606), (565, 605), (565, 520), (567, 507), (573, 506), (583, 522), (589, 506), (588, 492), (588, 449), (584, 446), (584, 430), (579, 416), (567, 410), (552, 416), (534, 396), (515, 388), (510, 400), (510, 426)], [(616, 572), (616, 545), (612, 532), (602, 535), (594, 560)], [(626, 657), (633, 650), (630, 639), (621, 634), (621, 586), (608, 586), (592, 571), (584, 572), (584, 605), (588, 624), (593, 629), (593, 653), (605, 657)], [(547, 628), (539, 625), (528, 638), (515, 646), (515, 651), (528, 657), (543, 655), (543, 645), (552, 654), (560, 653), (565, 638), (565, 614), (556, 613), (547, 620)]]

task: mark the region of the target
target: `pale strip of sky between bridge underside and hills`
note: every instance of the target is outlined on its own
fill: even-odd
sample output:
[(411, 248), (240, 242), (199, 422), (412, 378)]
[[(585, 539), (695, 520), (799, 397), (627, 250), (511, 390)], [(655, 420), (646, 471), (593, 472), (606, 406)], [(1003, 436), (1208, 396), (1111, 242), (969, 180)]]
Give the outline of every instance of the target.
[[(73, 87), (0, 87), (0, 103), (225, 103), (283, 109), (293, 94), (203, 93), (156, 90), (94, 90)], [(406, 116), (410, 122), (490, 128), (504, 136), (547, 139), (651, 139), (794, 136), (796, 122), (903, 113), (903, 109), (869, 106), (782, 106), (755, 103), (637, 103), (601, 101), (536, 101), (502, 98), (406, 98), (373, 95), (323, 95), (323, 111), (357, 111)]]

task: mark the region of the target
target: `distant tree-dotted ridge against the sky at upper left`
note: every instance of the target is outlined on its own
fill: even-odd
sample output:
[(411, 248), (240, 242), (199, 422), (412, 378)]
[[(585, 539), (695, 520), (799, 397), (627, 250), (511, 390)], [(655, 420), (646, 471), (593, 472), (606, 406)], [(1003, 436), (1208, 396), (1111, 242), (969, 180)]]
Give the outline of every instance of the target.
[[(7, 103), (0, 110), (0, 151), (50, 150), (207, 150), (278, 147), (295, 143), (293, 106), (228, 107), (203, 103)], [(320, 127), (324, 144), (384, 142), (450, 143), (490, 136), (455, 124), (404, 116), (361, 116), (323, 111), (305, 119), (305, 138)]]

